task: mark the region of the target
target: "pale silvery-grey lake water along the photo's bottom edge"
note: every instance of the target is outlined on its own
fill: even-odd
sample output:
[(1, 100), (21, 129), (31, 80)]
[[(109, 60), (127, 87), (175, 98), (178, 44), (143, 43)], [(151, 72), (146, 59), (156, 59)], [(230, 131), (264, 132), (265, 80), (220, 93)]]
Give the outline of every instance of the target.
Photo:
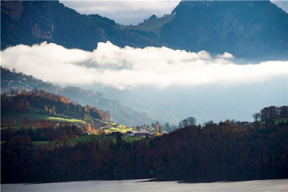
[(288, 179), (182, 183), (148, 180), (1, 184), (1, 192), (288, 192)]

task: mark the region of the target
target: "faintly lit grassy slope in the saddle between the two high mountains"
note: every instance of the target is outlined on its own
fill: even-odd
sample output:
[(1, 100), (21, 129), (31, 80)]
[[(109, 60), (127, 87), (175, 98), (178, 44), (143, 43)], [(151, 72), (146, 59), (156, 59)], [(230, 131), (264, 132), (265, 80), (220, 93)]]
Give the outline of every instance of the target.
[(165, 23), (170, 22), (174, 18), (174, 16), (175, 14), (169, 14), (160, 18), (152, 18), (139, 25), (125, 26), (125, 28), (152, 31), (156, 34), (159, 34), (161, 27)]

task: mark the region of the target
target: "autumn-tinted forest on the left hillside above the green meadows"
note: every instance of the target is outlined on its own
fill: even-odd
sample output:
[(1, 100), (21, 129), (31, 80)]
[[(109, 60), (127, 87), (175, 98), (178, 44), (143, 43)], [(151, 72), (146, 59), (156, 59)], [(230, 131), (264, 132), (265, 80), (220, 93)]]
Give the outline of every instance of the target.
[(34, 89), (26, 92), (22, 89), (12, 95), (1, 95), (1, 114), (5, 113), (36, 113), (40, 111), (43, 114), (69, 115), (75, 119), (92, 121), (93, 119), (110, 120), (109, 112), (103, 112), (89, 105), (81, 106), (76, 101), (70, 101), (69, 98), (46, 92), (44, 90)]

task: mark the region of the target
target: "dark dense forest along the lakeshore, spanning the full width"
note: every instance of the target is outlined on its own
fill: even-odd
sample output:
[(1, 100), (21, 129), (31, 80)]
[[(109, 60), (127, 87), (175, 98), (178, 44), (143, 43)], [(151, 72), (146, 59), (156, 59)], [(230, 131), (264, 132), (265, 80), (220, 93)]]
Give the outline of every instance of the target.
[(1, 182), (149, 171), (288, 171), (288, 122), (267, 121), (254, 127), (242, 127), (228, 120), (210, 122), (135, 142), (126, 142), (117, 135), (116, 141), (103, 137), (76, 144), (32, 143), (37, 137), (53, 138), (61, 131), (67, 137), (79, 134), (76, 128), (68, 134), (67, 128), (5, 134), (7, 141), (1, 145)]

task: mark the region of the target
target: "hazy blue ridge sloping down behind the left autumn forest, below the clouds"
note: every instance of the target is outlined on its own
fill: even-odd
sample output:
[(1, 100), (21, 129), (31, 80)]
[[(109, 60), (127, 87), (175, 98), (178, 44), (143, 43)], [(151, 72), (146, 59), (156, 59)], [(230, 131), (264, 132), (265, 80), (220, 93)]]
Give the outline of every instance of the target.
[(17, 73), (1, 68), (1, 93), (10, 92), (11, 90), (32, 91), (34, 88), (45, 90), (54, 94), (60, 94), (77, 101), (81, 105), (97, 106), (105, 111), (109, 111), (111, 119), (126, 126), (136, 126), (138, 124), (149, 124), (151, 118), (141, 111), (135, 111), (131, 107), (121, 104), (118, 100), (106, 99), (99, 92), (84, 90), (79, 87), (64, 87), (55, 86), (49, 82), (43, 82), (33, 76), (28, 76), (23, 73)]

